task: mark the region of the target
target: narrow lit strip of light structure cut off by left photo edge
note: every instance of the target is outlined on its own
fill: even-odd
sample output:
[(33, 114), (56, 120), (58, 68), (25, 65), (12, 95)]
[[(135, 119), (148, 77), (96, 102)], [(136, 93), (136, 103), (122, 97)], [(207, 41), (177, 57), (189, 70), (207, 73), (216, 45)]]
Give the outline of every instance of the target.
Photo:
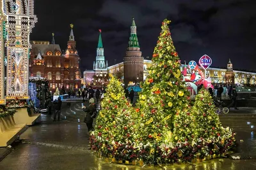
[[(3, 1), (0, 0), (0, 4)], [(5, 20), (3, 5), (0, 6), (0, 104), (5, 104), (4, 99), (4, 38), (5, 38)]]

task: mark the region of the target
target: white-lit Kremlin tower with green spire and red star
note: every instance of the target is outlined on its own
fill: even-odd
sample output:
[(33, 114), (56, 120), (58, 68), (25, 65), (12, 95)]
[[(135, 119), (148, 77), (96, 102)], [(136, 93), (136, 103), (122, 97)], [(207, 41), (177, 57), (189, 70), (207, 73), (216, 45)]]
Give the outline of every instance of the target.
[(107, 71), (108, 61), (105, 62), (104, 48), (101, 38), (101, 29), (99, 29), (99, 41), (97, 46), (96, 61), (93, 62), (93, 70)]

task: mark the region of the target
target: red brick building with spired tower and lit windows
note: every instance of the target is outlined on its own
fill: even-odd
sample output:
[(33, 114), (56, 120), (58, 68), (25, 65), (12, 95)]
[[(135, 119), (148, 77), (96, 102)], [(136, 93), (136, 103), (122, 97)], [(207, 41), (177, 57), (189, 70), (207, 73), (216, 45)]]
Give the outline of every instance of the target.
[(71, 28), (67, 50), (61, 52), (60, 45), (49, 41), (31, 41), (31, 55), (29, 59), (29, 76), (44, 77), (49, 80), (49, 88), (53, 93), (62, 86), (66, 90), (74, 87), (81, 88), (81, 71), (79, 69), (79, 55), (76, 41)]

